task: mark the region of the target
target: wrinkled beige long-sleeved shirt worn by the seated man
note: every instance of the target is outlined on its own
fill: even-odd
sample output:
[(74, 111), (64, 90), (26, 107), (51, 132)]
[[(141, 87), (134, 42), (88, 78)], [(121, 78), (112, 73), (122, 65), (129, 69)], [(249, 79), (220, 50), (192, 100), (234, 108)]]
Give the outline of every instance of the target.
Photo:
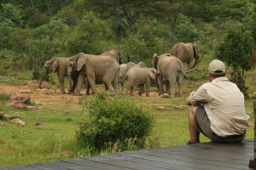
[(218, 136), (243, 134), (249, 127), (244, 95), (226, 77), (205, 83), (190, 95), (192, 105), (204, 104), (212, 132)]

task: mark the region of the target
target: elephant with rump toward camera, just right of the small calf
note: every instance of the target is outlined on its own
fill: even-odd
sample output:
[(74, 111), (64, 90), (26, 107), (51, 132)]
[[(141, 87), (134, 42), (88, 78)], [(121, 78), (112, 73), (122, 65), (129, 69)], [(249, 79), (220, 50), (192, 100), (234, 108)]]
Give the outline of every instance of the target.
[[(179, 94), (182, 95), (182, 81), (184, 77), (184, 68), (180, 59), (170, 54), (153, 56), (153, 67), (161, 72), (161, 77), (157, 78), (156, 85), (159, 94), (163, 94), (163, 79), (166, 80), (166, 92), (172, 97), (175, 96), (175, 84), (178, 81)], [(171, 91), (170, 91), (171, 89)]]

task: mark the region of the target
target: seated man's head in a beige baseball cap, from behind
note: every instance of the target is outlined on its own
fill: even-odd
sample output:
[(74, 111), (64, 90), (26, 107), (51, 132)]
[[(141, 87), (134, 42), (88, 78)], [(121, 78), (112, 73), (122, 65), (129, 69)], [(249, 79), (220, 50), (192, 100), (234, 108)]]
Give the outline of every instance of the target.
[(225, 71), (226, 71), (225, 64), (220, 60), (212, 60), (209, 63), (208, 71), (209, 71), (210, 80), (214, 80), (216, 78), (226, 76), (226, 74), (225, 74)]

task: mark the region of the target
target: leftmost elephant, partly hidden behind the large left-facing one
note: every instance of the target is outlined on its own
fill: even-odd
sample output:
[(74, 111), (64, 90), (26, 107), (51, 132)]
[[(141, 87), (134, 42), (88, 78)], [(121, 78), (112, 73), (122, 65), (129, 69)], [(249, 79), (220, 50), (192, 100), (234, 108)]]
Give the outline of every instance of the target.
[[(44, 69), (42, 71), (41, 80), (39, 82), (39, 88), (41, 88), (42, 81), (44, 80), (44, 77), (46, 74), (49, 74), (51, 72), (57, 72), (59, 85), (60, 85), (59, 93), (65, 94), (64, 80), (65, 80), (65, 77), (67, 77), (68, 63), (69, 63), (69, 58), (62, 58), (62, 57), (58, 57), (58, 58), (55, 57), (46, 61), (44, 65)], [(70, 86), (69, 92), (74, 92), (77, 79), (78, 79), (78, 72), (72, 71), (71, 76), (69, 77), (69, 86)]]

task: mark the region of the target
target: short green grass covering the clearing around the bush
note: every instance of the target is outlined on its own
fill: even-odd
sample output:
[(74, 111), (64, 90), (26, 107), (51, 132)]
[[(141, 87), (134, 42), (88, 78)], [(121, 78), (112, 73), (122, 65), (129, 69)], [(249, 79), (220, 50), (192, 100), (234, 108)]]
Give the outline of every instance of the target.
[[(199, 69), (204, 68), (206, 71), (193, 71), (187, 74), (193, 78), (193, 82), (184, 79), (184, 94), (195, 91), (200, 85), (209, 81), (207, 77), (203, 76), (207, 73), (207, 65), (213, 59), (212, 56), (212, 54), (207, 54), (200, 63)], [(0, 61), (0, 64), (4, 64), (5, 62), (7, 61)], [(5, 85), (24, 85), (25, 80), (31, 80), (31, 77), (28, 76), (31, 74), (29, 70), (21, 69), (19, 71), (13, 71), (12, 68), (5, 70), (0, 68), (0, 72), (13, 75), (14, 78), (18, 79), (17, 82), (1, 82), (0, 87)], [(255, 72), (249, 71), (247, 74), (246, 84), (249, 87), (250, 99), (245, 101), (245, 107), (247, 114), (250, 116), (249, 122), (253, 123), (252, 93), (256, 91), (256, 82), (253, 81)], [(227, 77), (229, 76), (227, 75)], [(51, 88), (59, 87), (56, 74), (52, 74), (50, 80)], [(68, 81), (66, 81), (67, 84)], [(141, 98), (141, 101), (150, 107), (156, 118), (150, 147), (170, 147), (186, 144), (189, 134), (187, 122), (188, 107), (184, 104), (185, 96), (175, 99), (137, 97)], [(40, 100), (48, 104), (42, 106), (41, 112), (36, 112), (12, 110), (5, 106), (4, 101), (6, 99), (6, 96), (0, 96), (0, 105), (2, 105), (2, 110), (0, 111), (8, 115), (19, 115), (26, 122), (26, 125), (24, 127), (14, 124), (11, 124), (11, 126), (0, 125), (0, 139), (4, 139), (4, 142), (0, 143), (0, 167), (47, 162), (87, 155), (86, 150), (81, 150), (75, 140), (79, 123), (89, 122), (87, 110), (81, 113), (82, 107), (78, 102), (69, 99), (56, 100), (37, 96), (31, 99), (32, 103)], [(164, 111), (157, 111), (157, 106), (159, 105), (165, 106), (166, 109)], [(172, 105), (180, 105), (182, 106), (182, 110), (174, 108)], [(0, 121), (6, 122), (3, 119), (0, 119)], [(39, 126), (30, 125), (34, 122), (40, 122), (42, 124)], [(247, 130), (246, 138), (253, 138), (253, 134), (253, 126), (250, 126)], [(203, 135), (200, 136), (201, 141), (209, 141)], [(63, 154), (64, 151), (70, 151), (71, 154), (65, 155)]]

